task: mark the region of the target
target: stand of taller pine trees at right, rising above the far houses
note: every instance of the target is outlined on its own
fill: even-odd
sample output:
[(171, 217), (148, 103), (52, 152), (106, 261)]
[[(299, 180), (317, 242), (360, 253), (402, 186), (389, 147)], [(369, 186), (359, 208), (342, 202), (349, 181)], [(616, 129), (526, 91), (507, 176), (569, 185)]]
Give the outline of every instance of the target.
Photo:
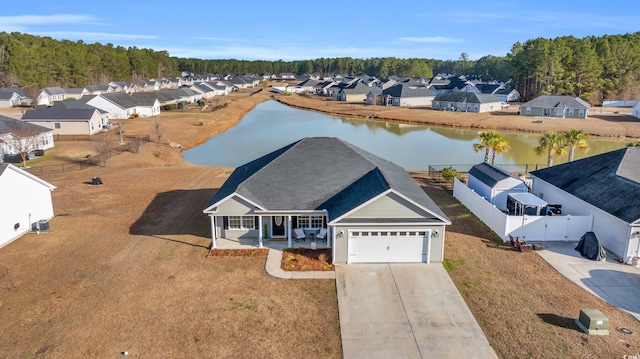
[(599, 104), (640, 97), (640, 32), (538, 38), (516, 43), (506, 58), (524, 99), (572, 95)]

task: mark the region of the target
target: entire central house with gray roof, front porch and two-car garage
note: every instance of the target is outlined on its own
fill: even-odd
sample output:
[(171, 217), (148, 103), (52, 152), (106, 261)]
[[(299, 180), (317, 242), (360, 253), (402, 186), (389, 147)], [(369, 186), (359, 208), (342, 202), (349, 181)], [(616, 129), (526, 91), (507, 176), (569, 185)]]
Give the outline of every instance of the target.
[(283, 238), (326, 228), (334, 263), (441, 262), (446, 215), (400, 166), (330, 137), (246, 163), (204, 213), (217, 238)]

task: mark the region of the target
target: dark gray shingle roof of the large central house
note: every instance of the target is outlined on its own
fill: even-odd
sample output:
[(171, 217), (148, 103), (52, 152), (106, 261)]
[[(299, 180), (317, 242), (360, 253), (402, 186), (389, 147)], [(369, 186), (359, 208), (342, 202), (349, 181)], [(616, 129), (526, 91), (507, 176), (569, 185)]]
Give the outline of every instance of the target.
[(239, 166), (207, 207), (237, 193), (268, 210), (323, 210), (333, 220), (394, 189), (447, 221), (400, 166), (333, 137), (308, 137)]

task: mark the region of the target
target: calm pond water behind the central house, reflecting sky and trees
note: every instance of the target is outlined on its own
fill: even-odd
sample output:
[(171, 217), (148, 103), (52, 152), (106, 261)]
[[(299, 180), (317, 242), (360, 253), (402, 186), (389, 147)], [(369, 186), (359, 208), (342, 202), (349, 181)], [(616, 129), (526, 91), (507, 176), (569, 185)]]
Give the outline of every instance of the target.
[[(534, 152), (538, 134), (500, 132), (509, 140), (511, 149), (498, 155), (498, 166), (508, 171), (546, 166), (546, 155)], [(303, 137), (318, 136), (338, 137), (408, 170), (453, 166), (467, 171), (484, 158), (484, 151), (473, 150), (478, 130), (336, 117), (276, 101), (259, 104), (238, 125), (184, 151), (183, 156), (198, 165), (237, 167)], [(576, 159), (625, 146), (623, 141), (591, 138), (588, 144), (589, 151), (576, 152)], [(555, 158), (554, 164), (566, 161), (566, 156)]]

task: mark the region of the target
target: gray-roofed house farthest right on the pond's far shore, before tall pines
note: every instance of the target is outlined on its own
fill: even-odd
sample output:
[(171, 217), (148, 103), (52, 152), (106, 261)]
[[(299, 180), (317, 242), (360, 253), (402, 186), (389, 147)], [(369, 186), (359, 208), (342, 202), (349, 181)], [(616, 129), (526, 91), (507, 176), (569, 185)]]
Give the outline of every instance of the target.
[(587, 118), (590, 107), (579, 97), (542, 95), (520, 105), (520, 116)]

